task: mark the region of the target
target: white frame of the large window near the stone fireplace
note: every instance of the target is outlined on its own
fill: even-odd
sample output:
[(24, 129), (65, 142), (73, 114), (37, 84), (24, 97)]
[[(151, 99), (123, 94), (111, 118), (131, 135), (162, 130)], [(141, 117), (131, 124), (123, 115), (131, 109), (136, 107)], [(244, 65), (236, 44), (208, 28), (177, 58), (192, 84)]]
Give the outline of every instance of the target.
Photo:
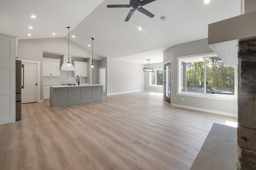
[[(204, 57), (204, 93), (187, 93), (181, 91), (181, 68), (182, 59), (192, 59), (192, 58), (199, 58)], [(211, 53), (202, 53), (202, 54), (195, 54), (195, 55), (185, 55), (185, 56), (178, 56), (177, 59), (177, 93), (176, 95), (182, 96), (191, 96), (191, 97), (202, 97), (202, 98), (210, 98), (210, 99), (222, 99), (222, 100), (230, 100), (230, 101), (237, 101), (238, 95), (238, 66), (234, 66), (235, 69), (235, 77), (234, 77), (234, 95), (223, 95), (223, 94), (212, 94), (206, 93), (206, 58), (208, 57), (218, 57), (218, 55), (214, 52)], [(184, 88), (184, 87), (183, 87)]]

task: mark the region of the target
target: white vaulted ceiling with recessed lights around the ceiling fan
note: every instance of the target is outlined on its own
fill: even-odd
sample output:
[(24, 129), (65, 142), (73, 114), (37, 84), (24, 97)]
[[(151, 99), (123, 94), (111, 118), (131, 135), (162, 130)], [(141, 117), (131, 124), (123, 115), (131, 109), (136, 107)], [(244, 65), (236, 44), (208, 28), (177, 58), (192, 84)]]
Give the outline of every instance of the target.
[[(238, 16), (241, 0), (156, 0), (143, 6), (154, 18), (136, 11), (124, 22), (129, 8), (107, 8), (129, 0), (1, 0), (0, 33), (18, 39), (66, 37), (94, 53), (133, 63), (158, 63), (173, 45), (208, 37), (208, 24)], [(29, 18), (36, 15), (36, 19)], [(160, 20), (161, 16), (166, 21)], [(28, 26), (33, 26), (29, 30)], [(138, 27), (142, 27), (139, 31)], [(56, 35), (52, 36), (55, 32)], [(27, 34), (32, 36), (28, 37)]]

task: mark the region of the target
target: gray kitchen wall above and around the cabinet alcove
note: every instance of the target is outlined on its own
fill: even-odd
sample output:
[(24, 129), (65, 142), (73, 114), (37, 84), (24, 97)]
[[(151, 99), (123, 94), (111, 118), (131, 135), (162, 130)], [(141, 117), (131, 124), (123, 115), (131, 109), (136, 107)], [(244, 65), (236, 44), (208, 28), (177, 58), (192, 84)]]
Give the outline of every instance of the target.
[[(42, 87), (42, 58), (43, 51), (57, 54), (68, 54), (68, 39), (66, 38), (42, 38), (18, 40), (17, 56), (21, 60), (40, 61), (40, 99), (43, 99)], [(91, 57), (91, 51), (70, 41), (70, 55), (76, 57)], [(96, 58), (100, 58), (94, 55)], [(90, 65), (90, 62), (88, 62)], [(90, 67), (89, 67), (90, 68)], [(88, 72), (90, 75), (90, 71)], [(90, 77), (87, 77), (87, 79)], [(86, 83), (89, 83), (86, 80)]]

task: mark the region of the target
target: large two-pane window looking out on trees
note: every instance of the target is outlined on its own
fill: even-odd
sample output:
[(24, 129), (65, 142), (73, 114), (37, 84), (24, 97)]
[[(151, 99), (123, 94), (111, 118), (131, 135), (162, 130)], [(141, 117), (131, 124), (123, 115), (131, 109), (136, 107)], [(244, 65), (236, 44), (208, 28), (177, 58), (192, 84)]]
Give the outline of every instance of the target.
[(217, 55), (180, 58), (179, 93), (235, 96), (236, 69)]

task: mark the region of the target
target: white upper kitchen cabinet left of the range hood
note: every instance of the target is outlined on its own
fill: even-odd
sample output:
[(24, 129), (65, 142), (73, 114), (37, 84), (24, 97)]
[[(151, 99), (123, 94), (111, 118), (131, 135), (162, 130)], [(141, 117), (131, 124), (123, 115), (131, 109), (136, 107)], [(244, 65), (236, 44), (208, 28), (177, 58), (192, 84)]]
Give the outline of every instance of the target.
[(60, 59), (43, 58), (43, 76), (60, 77)]

